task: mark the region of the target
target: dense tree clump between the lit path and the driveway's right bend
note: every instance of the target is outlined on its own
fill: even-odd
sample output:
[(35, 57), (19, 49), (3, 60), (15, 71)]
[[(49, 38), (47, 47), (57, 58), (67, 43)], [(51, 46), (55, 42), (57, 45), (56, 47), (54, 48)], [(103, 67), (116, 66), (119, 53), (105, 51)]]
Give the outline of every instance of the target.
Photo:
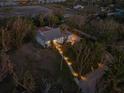
[(74, 46), (67, 47), (66, 55), (72, 58), (74, 69), (81, 75), (94, 71), (99, 63), (104, 63), (105, 50), (99, 43), (83, 39)]

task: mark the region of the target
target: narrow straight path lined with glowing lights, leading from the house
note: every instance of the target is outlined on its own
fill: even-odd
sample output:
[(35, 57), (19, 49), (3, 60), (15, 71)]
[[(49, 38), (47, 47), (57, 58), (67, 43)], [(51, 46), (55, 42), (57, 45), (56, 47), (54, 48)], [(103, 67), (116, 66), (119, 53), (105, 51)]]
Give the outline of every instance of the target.
[(76, 84), (79, 86), (79, 78), (81, 80), (87, 80), (86, 77), (84, 76), (79, 76), (79, 74), (77, 72), (74, 71), (74, 69), (72, 68), (72, 62), (69, 61), (69, 57), (65, 56), (64, 53), (63, 53), (63, 49), (62, 49), (62, 45), (58, 44), (56, 42), (56, 40), (53, 41), (54, 45), (55, 45), (55, 48), (58, 50), (58, 52), (60, 53), (60, 55), (63, 57), (63, 59), (65, 60), (65, 62), (67, 63), (68, 67), (69, 67), (69, 70), (71, 71), (73, 77), (74, 77), (74, 80), (76, 82)]

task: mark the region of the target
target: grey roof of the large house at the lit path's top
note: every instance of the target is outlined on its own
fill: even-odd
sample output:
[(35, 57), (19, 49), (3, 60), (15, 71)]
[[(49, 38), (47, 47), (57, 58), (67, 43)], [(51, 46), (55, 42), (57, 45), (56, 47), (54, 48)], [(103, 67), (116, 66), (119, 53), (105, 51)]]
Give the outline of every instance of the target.
[(40, 38), (44, 41), (54, 40), (69, 35), (71, 35), (71, 32), (66, 31), (65, 33), (62, 33), (60, 28), (54, 28), (49, 31), (40, 32)]

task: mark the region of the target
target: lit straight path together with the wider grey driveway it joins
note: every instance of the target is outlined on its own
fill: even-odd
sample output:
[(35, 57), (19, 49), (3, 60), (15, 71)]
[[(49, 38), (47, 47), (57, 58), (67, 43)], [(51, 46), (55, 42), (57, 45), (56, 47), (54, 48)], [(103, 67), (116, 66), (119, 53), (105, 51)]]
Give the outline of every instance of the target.
[(98, 83), (97, 80), (99, 80), (104, 73), (104, 65), (98, 64), (99, 68), (96, 69), (94, 72), (89, 73), (88, 75), (86, 75), (86, 77), (80, 76), (79, 73), (75, 72), (74, 69), (72, 68), (73, 64), (71, 61), (69, 61), (70, 58), (64, 55), (64, 50), (62, 48), (62, 45), (58, 44), (56, 40), (54, 40), (53, 43), (55, 48), (58, 50), (60, 55), (67, 63), (68, 68), (73, 75), (74, 81), (79, 86), (81, 91), (83, 93), (95, 93), (96, 84)]

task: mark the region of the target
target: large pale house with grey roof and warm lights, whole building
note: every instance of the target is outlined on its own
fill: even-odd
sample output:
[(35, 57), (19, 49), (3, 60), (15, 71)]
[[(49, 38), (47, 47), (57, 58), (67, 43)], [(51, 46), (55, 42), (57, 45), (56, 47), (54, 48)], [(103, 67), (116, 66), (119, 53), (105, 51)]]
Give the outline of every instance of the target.
[(39, 28), (36, 34), (36, 41), (42, 45), (43, 47), (50, 47), (51, 41), (56, 41), (58, 43), (70, 42), (74, 43), (77, 38), (69, 31), (64, 31), (64, 33), (60, 30), (60, 28), (50, 28), (44, 27)]

